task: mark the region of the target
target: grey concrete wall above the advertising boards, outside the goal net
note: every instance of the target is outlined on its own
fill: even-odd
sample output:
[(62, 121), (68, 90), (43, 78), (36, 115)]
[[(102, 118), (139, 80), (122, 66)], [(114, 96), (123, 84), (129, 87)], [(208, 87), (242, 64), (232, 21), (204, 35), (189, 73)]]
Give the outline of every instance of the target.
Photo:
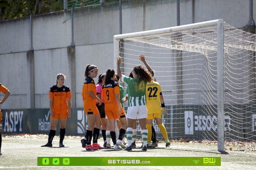
[[(177, 25), (177, 3), (122, 9), (122, 33)], [(118, 3), (116, 9), (118, 8)], [(253, 3), (253, 9), (256, 9)], [(180, 25), (223, 18), (242, 28), (249, 18), (249, 0), (188, 0), (180, 2)], [(255, 10), (252, 18), (256, 17)], [(68, 46), (72, 41), (71, 19), (63, 11), (0, 22), (0, 82), (11, 92), (3, 109), (48, 108), (49, 88), (56, 75), (67, 76), (72, 107), (82, 107), (81, 90), (87, 64), (99, 67), (99, 74), (113, 68), (113, 36), (119, 34), (119, 11), (100, 11), (74, 18), (75, 61)], [(73, 62), (73, 63), (72, 63)], [(72, 66), (73, 64), (73, 66)], [(74, 80), (73, 80), (73, 79)], [(97, 82), (97, 78), (95, 78)], [(0, 99), (3, 94), (0, 94)]]

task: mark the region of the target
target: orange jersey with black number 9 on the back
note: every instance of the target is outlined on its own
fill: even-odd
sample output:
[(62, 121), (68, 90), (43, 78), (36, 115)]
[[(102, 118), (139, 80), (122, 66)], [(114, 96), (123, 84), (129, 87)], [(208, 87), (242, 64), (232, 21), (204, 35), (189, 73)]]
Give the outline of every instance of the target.
[(104, 97), (105, 110), (113, 110), (116, 108), (118, 110), (115, 94), (120, 96), (119, 84), (117, 82), (111, 80), (107, 85), (103, 85), (101, 96)]

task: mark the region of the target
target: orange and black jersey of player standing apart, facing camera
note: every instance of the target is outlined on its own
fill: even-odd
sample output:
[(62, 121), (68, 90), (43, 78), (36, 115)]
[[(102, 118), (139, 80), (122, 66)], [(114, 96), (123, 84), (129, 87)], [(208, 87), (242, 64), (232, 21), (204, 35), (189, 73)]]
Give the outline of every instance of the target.
[(68, 113), (67, 99), (71, 98), (71, 92), (68, 86), (58, 87), (53, 85), (49, 91), (49, 99), (53, 99), (52, 111), (55, 114)]

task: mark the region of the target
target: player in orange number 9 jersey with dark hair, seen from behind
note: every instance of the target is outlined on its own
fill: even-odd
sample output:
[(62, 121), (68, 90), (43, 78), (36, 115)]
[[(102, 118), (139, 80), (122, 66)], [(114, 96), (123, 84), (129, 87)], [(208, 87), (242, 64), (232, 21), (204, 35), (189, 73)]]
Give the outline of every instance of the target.
[[(119, 84), (114, 80), (115, 71), (108, 69), (105, 76), (105, 83), (102, 87), (101, 99), (105, 101), (105, 113), (110, 123), (110, 135), (114, 143), (114, 150), (121, 150), (125, 148), (122, 139), (127, 128), (127, 121), (120, 103)], [(121, 128), (119, 130), (118, 140), (116, 141), (115, 125), (117, 118), (121, 122)]]

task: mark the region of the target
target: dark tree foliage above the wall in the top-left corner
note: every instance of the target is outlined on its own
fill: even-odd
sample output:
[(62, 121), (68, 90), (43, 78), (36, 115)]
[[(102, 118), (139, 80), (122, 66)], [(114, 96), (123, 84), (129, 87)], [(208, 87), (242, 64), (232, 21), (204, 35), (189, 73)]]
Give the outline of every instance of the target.
[(63, 0), (0, 0), (0, 21), (63, 10)]

